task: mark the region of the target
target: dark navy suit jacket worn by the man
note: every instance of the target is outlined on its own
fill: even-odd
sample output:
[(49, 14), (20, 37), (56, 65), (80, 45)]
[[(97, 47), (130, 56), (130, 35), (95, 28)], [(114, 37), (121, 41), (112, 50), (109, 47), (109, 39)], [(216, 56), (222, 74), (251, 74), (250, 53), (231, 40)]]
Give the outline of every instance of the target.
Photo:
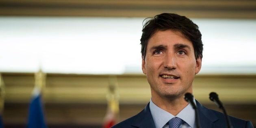
[[(227, 128), (223, 113), (208, 109), (196, 101), (201, 128)], [(254, 128), (251, 121), (230, 116), (233, 128)], [(137, 115), (126, 119), (112, 128), (155, 128), (149, 104)]]

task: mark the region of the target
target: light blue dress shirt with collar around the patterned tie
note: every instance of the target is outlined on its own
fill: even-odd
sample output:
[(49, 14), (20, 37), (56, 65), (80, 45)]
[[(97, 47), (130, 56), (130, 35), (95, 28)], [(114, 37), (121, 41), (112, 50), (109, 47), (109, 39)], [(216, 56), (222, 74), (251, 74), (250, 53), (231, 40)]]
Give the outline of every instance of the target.
[[(193, 99), (195, 102), (195, 99)], [(195, 103), (196, 104), (196, 103)], [(150, 99), (150, 112), (153, 117), (156, 128), (169, 128), (168, 121), (173, 117), (179, 117), (184, 122), (180, 128), (196, 128), (195, 126), (195, 110), (188, 104), (178, 115), (174, 116), (171, 113), (159, 108)]]

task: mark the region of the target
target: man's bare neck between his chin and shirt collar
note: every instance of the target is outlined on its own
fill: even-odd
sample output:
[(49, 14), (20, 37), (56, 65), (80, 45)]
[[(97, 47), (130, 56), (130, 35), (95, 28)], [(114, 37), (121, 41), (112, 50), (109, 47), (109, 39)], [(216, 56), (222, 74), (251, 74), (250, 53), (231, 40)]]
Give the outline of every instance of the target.
[(152, 95), (152, 101), (156, 106), (176, 116), (189, 103), (184, 100), (183, 95), (178, 97), (160, 97), (159, 95)]

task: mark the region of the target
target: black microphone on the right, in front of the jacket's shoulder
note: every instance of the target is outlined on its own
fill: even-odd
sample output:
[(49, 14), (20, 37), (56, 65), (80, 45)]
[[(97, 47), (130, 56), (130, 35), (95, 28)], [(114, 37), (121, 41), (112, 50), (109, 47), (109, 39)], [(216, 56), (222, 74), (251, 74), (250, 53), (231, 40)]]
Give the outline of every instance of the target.
[(226, 109), (224, 108), (224, 105), (222, 104), (222, 102), (219, 100), (218, 94), (215, 93), (215, 92), (211, 92), (209, 94), (209, 96), (210, 96), (209, 97), (210, 100), (215, 102), (215, 104), (218, 106), (218, 108), (220, 108), (223, 111), (223, 113), (225, 115), (226, 123), (228, 124), (228, 128), (233, 128), (232, 125), (231, 125), (231, 122), (230, 122), (230, 118), (229, 118), (229, 116), (226, 112)]

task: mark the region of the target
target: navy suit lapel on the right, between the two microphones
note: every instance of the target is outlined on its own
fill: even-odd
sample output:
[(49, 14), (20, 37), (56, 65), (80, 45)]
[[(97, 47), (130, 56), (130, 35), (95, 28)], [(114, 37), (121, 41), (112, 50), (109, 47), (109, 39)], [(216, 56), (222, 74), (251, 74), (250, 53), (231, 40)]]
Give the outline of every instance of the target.
[(198, 110), (198, 115), (200, 118), (200, 125), (202, 128), (220, 128), (219, 126), (215, 125), (215, 121), (217, 121), (219, 118), (210, 111), (210, 109), (204, 107), (202, 104), (199, 102), (196, 102), (197, 110)]

